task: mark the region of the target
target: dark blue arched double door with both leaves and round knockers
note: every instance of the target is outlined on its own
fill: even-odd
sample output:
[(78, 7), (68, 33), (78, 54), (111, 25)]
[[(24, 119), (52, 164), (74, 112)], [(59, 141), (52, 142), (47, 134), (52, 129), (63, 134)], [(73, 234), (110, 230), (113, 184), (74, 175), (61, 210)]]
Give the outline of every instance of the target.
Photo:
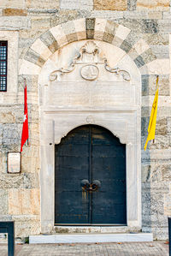
[(85, 125), (55, 149), (55, 223), (127, 224), (126, 146)]

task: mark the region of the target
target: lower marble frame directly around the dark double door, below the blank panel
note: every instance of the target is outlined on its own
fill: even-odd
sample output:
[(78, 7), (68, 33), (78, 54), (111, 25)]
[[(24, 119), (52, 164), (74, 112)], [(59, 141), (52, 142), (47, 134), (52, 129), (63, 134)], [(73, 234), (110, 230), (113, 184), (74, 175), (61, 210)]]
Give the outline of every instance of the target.
[[(140, 118), (137, 110), (46, 110), (41, 125), (41, 230), (50, 232), (55, 223), (55, 144), (72, 129), (87, 123), (109, 129), (126, 144), (127, 226), (141, 229)], [(88, 122), (87, 122), (88, 120)], [(108, 122), (106, 122), (108, 121)], [(112, 226), (112, 225), (111, 225)]]

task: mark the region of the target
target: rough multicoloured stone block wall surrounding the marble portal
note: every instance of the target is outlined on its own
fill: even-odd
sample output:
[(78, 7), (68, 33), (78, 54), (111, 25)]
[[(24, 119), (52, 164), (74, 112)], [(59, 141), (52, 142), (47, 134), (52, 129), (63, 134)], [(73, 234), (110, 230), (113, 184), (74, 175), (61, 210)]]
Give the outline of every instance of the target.
[[(17, 62), (14, 64), (13, 57), (9, 59), (9, 66), (14, 68), (10, 68), (8, 92), (0, 92), (0, 217), (16, 221), (16, 236), (24, 237), (40, 232), (38, 72), (44, 64), (44, 56), (40, 58), (30, 51), (30, 47), (36, 39), (40, 39), (48, 50), (56, 51), (57, 45), (53, 45), (53, 38), (50, 38), (50, 33), (44, 38), (45, 32), (63, 22), (80, 18), (90, 19), (87, 20), (90, 21), (87, 23), (87, 34), (92, 39), (95, 18), (114, 21), (117, 25), (127, 27), (128, 32), (131, 30), (131, 33), (121, 31), (120, 39), (123, 33), (126, 40), (122, 49), (136, 59), (136, 64), (142, 71), (142, 229), (154, 232), (157, 239), (164, 239), (168, 232), (165, 213), (171, 215), (171, 13), (168, 0), (108, 0), (105, 4), (102, 0), (1, 1), (0, 39), (8, 39), (8, 31), (17, 34), (18, 41), (15, 40), (13, 44), (17, 49)], [(111, 43), (114, 30), (115, 26), (111, 25), (109, 33), (101, 40)], [(117, 37), (115, 39), (115, 44), (121, 45), (122, 41)], [(76, 40), (74, 34), (69, 40)], [(29, 66), (32, 71), (27, 75), (19, 74), (18, 71), (23, 58), (36, 64)], [(17, 65), (18, 68), (15, 68)], [(29, 68), (27, 65), (25, 68)], [(144, 152), (150, 108), (155, 95), (156, 74), (159, 74), (156, 143), (149, 143)], [(11, 77), (16, 77), (14, 83)], [(27, 78), (30, 146), (24, 146), (22, 152), (21, 174), (9, 175), (7, 152), (20, 151), (24, 78)]]

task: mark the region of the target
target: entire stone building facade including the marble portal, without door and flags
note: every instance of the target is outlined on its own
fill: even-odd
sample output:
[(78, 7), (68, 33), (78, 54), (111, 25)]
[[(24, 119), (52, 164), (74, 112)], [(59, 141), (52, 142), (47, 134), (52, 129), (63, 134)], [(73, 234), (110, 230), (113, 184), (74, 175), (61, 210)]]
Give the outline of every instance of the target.
[[(8, 41), (8, 82), (7, 92), (0, 92), (0, 218), (15, 220), (16, 237), (54, 231), (55, 145), (89, 123), (109, 129), (127, 146), (127, 227), (121, 230), (167, 238), (170, 11), (169, 0), (1, 3), (0, 40)], [(89, 57), (93, 53), (95, 77), (86, 70), (80, 73), (90, 63), (83, 52)], [(156, 142), (144, 152), (156, 75)], [(9, 174), (7, 153), (21, 147), (25, 79), (29, 146), (21, 153), (21, 173)]]

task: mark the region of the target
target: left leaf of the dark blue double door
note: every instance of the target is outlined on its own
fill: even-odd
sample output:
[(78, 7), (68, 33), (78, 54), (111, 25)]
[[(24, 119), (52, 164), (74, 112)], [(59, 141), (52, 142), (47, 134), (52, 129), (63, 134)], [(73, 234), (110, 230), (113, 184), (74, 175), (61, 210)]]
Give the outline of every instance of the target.
[(80, 186), (89, 179), (89, 144), (89, 128), (83, 128), (56, 146), (55, 223), (90, 223), (90, 198)]

